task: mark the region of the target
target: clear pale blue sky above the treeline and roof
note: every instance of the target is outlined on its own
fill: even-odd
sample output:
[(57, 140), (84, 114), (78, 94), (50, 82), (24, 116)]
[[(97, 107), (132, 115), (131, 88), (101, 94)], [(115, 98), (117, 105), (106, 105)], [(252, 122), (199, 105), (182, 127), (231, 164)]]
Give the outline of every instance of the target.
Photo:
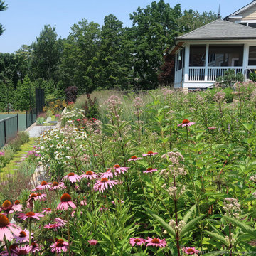
[[(117, 16), (124, 26), (132, 26), (129, 14), (138, 7), (146, 8), (153, 0), (5, 0), (6, 11), (0, 12), (4, 34), (0, 36), (0, 52), (14, 53), (22, 45), (36, 41), (44, 25), (55, 26), (58, 37), (66, 38), (70, 27), (81, 21), (94, 21), (101, 26), (104, 17)], [(158, 1), (158, 0), (156, 0)], [(215, 11), (222, 17), (250, 4), (252, 0), (165, 0), (171, 7), (181, 4), (181, 10)]]

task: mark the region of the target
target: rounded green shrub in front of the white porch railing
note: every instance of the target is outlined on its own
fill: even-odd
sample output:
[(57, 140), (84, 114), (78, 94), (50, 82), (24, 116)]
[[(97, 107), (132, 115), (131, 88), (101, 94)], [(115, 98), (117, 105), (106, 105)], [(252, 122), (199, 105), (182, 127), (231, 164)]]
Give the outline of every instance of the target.
[(216, 78), (216, 83), (220, 85), (220, 87), (230, 87), (233, 88), (235, 82), (242, 82), (244, 80), (244, 76), (242, 73), (235, 74), (235, 70), (229, 69), (225, 71), (223, 77)]

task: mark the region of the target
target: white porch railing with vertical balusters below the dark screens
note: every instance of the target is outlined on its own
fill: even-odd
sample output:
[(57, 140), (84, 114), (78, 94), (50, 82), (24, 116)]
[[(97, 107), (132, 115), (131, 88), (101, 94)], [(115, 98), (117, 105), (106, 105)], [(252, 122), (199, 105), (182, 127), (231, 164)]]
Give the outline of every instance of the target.
[(235, 73), (243, 73), (240, 67), (190, 67), (188, 71), (188, 81), (208, 81), (214, 82), (219, 76), (223, 76), (225, 71), (233, 69)]

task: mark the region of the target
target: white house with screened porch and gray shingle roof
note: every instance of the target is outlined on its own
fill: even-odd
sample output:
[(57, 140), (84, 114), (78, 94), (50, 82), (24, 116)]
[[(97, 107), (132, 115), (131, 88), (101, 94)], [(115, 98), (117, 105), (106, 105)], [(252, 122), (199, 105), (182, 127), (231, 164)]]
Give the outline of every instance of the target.
[(174, 88), (208, 88), (228, 69), (247, 79), (256, 69), (256, 1), (176, 38)]

